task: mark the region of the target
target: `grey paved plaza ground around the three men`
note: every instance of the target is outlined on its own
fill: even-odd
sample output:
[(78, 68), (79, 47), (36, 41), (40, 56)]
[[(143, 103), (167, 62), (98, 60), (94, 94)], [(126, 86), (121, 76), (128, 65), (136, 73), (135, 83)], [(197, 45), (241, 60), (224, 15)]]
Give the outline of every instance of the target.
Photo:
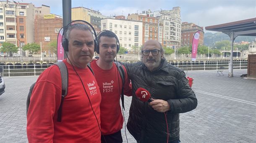
[[(256, 143), (256, 80), (243, 79), (246, 69), (234, 69), (234, 77), (216, 70), (188, 71), (198, 99), (195, 110), (180, 114), (181, 143)], [(26, 98), (34, 77), (4, 77), (0, 96), (0, 143), (26, 143)], [(131, 97), (125, 97), (125, 121)], [(156, 123), (157, 124), (157, 123)], [(125, 130), (122, 130), (124, 143)], [(126, 129), (128, 143), (136, 140)]]

